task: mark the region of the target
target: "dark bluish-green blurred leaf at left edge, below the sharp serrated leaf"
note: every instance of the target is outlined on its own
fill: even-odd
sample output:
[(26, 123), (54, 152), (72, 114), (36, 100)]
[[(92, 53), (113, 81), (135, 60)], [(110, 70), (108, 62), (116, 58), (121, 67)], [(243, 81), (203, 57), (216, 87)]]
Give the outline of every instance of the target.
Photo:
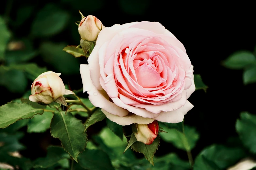
[(0, 146), (0, 154), (25, 149), (25, 147), (19, 142), (23, 136), (24, 134), (21, 132), (17, 132), (15, 134), (0, 133), (0, 143), (3, 143), (1, 144), (3, 146)]

